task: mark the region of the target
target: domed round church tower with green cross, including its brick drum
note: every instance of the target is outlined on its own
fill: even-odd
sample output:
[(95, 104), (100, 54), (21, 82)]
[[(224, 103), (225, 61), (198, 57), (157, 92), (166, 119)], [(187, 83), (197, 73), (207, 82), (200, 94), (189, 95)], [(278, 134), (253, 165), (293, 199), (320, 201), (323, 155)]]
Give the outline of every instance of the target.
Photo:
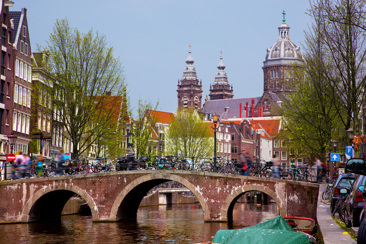
[(302, 65), (300, 47), (295, 45), (289, 36), (290, 27), (286, 24), (285, 10), (283, 20), (278, 27), (277, 42), (267, 48), (262, 67), (264, 72), (264, 93), (273, 92), (281, 100), (291, 92), (291, 79), (294, 66)]

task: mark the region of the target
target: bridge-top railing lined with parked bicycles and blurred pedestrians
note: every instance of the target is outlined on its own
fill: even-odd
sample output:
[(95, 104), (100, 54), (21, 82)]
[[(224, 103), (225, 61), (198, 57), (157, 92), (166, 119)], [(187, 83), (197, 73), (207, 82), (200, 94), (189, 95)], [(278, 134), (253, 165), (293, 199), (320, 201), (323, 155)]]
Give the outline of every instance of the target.
[[(243, 168), (243, 165), (247, 167)], [(213, 159), (189, 156), (135, 156), (128, 154), (122, 157), (109, 157), (85, 159), (79, 158), (65, 162), (47, 162), (40, 166), (36, 162), (16, 165), (14, 162), (6, 162), (4, 165), (5, 179), (26, 179), (38, 177), (51, 177), (58, 175), (92, 174), (100, 172), (128, 171), (128, 170), (190, 170), (212, 172), (214, 170)], [(217, 158), (216, 169), (221, 174), (249, 175), (252, 177), (277, 178), (283, 180), (319, 182), (329, 181), (320, 170), (314, 170), (308, 165), (279, 166), (278, 173), (270, 162), (247, 163), (227, 161)], [(319, 172), (318, 172), (319, 171)], [(4, 180), (4, 179), (1, 179)]]

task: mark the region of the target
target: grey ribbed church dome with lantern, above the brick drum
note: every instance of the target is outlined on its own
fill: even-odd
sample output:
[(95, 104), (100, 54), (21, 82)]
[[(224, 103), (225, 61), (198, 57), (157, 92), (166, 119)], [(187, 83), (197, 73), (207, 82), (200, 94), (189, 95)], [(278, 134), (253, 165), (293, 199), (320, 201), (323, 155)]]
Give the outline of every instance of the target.
[(289, 36), (290, 27), (284, 22), (278, 27), (279, 36), (277, 42), (267, 48), (264, 59), (264, 66), (291, 64), (295, 61), (303, 62), (300, 47), (291, 41)]

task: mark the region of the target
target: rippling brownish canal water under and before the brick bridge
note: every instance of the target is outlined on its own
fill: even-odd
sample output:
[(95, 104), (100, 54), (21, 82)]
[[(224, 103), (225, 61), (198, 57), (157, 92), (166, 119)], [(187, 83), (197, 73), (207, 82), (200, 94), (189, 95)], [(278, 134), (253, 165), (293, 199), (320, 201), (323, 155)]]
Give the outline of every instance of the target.
[(192, 244), (212, 241), (220, 229), (244, 228), (278, 215), (275, 203), (236, 203), (233, 223), (205, 223), (196, 203), (148, 206), (140, 207), (137, 220), (130, 222), (92, 223), (91, 216), (66, 215), (61, 222), (0, 224), (0, 243)]

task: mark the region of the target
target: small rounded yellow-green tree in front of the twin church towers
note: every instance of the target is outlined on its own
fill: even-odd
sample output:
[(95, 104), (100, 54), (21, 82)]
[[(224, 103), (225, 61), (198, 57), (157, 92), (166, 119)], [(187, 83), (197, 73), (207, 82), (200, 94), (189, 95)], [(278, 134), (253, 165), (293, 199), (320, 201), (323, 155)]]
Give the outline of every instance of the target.
[(165, 132), (167, 155), (212, 158), (214, 140), (210, 123), (203, 122), (194, 109), (178, 109)]

